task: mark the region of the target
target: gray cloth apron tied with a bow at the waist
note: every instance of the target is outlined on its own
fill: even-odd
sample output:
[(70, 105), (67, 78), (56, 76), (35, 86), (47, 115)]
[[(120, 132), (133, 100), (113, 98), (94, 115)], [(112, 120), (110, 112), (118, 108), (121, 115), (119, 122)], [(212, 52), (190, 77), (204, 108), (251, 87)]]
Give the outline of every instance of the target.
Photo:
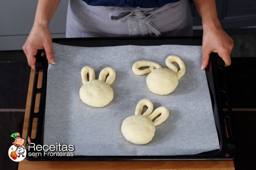
[(159, 8), (90, 6), (70, 0), (66, 37), (192, 36), (188, 0)]

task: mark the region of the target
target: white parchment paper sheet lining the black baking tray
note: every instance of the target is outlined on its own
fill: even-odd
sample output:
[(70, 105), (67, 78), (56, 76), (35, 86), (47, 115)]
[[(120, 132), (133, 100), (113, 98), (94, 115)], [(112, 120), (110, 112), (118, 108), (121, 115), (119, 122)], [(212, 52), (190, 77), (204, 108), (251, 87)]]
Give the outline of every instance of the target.
[[(74, 145), (75, 155), (184, 155), (219, 149), (219, 142), (205, 71), (201, 70), (201, 46), (73, 47), (53, 44), (56, 64), (49, 64), (47, 77), (44, 144)], [(151, 60), (165, 65), (169, 55), (180, 56), (186, 73), (169, 95), (153, 94), (146, 75), (137, 76), (132, 65)], [(101, 108), (82, 103), (82, 67), (112, 67), (117, 76), (111, 87), (113, 101)], [(150, 99), (154, 109), (169, 108), (167, 121), (156, 126), (146, 145), (126, 141), (123, 120), (134, 114), (139, 100)]]

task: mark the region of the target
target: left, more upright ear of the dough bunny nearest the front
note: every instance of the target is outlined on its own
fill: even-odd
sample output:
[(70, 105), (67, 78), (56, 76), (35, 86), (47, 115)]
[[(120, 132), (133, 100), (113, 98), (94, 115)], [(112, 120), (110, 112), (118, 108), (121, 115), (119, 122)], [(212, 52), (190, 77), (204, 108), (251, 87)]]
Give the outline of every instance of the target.
[(135, 115), (142, 114), (143, 107), (146, 106), (148, 109), (146, 112), (143, 113), (144, 116), (149, 116), (153, 112), (153, 103), (149, 99), (142, 99), (138, 102), (136, 109), (135, 109)]

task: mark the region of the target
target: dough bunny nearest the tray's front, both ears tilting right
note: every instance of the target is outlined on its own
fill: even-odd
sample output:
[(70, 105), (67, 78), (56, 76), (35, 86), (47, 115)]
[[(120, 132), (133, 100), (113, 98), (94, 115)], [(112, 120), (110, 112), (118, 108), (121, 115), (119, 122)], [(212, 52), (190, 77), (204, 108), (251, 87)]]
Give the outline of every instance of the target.
[[(148, 109), (142, 114), (144, 106), (147, 106)], [(127, 117), (122, 123), (121, 131), (127, 141), (143, 145), (153, 139), (155, 126), (160, 125), (168, 118), (169, 110), (162, 106), (152, 112), (153, 103), (149, 99), (139, 101), (135, 109), (135, 115)], [(156, 118), (157, 116), (159, 117)], [(153, 121), (153, 119), (155, 120)]]

